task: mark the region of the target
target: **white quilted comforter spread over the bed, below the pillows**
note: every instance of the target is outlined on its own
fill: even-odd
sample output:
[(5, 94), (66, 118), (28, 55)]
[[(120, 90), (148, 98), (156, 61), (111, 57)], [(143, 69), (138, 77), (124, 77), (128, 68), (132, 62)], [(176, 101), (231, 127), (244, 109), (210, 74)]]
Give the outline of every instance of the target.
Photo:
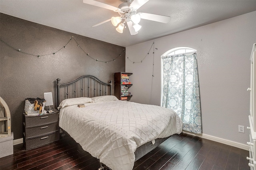
[(121, 100), (85, 105), (60, 109), (59, 125), (112, 170), (132, 170), (137, 147), (182, 131), (179, 116), (164, 107)]

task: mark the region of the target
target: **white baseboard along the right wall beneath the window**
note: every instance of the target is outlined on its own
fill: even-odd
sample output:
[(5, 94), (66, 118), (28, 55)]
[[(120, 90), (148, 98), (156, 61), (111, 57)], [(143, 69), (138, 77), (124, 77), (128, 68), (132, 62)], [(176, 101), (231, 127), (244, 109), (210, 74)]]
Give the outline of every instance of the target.
[(226, 145), (230, 145), (232, 147), (236, 147), (236, 148), (240, 148), (240, 149), (244, 149), (244, 150), (249, 150), (250, 149), (250, 147), (248, 145), (238, 143), (238, 142), (234, 142), (234, 141), (229, 141), (227, 139), (222, 139), (222, 138), (219, 138), (219, 137), (206, 135), (206, 134), (195, 134), (195, 133), (188, 132), (188, 131), (182, 131), (182, 132), (187, 133), (189, 135), (194, 135), (194, 136), (197, 136), (197, 137), (201, 137), (201, 138), (204, 138), (204, 139), (215, 141), (215, 142), (218, 142), (218, 143), (223, 143), (223, 144), (226, 144)]

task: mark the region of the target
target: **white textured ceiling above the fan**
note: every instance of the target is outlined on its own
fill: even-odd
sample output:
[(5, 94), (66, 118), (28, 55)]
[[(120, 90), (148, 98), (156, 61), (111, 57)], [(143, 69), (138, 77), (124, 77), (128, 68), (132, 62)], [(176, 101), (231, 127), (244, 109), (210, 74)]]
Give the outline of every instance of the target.
[[(116, 6), (124, 0), (98, 0)], [(256, 10), (256, 0), (149, 0), (137, 12), (170, 16), (169, 23), (141, 20), (142, 28), (130, 35), (118, 33), (111, 21), (117, 12), (84, 4), (83, 0), (0, 0), (0, 12), (122, 47), (225, 20)], [(238, 23), (239, 24), (239, 23)]]

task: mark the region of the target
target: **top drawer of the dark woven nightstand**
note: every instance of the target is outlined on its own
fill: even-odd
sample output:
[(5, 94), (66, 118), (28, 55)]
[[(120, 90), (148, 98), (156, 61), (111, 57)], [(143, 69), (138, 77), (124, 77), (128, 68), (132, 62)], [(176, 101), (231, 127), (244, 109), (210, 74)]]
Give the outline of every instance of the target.
[[(59, 112), (58, 112), (59, 113)], [(59, 121), (58, 113), (48, 113), (38, 116), (26, 116), (25, 127), (33, 127), (38, 125), (49, 124)]]

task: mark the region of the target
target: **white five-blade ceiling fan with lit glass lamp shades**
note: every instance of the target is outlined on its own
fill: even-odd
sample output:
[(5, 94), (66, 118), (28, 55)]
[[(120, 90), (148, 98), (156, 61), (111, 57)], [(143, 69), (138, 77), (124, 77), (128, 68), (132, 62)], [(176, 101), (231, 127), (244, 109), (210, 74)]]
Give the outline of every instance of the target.
[(95, 0), (83, 0), (85, 4), (106, 8), (108, 10), (118, 12), (118, 14), (120, 15), (117, 17), (112, 17), (111, 19), (108, 19), (96, 25), (93, 25), (93, 27), (96, 27), (98, 25), (111, 21), (114, 26), (117, 26), (119, 23), (118, 27), (116, 27), (116, 31), (118, 31), (119, 33), (123, 33), (123, 29), (124, 27), (126, 27), (124, 24), (126, 23), (130, 30), (131, 35), (136, 35), (140, 30), (141, 28), (141, 25), (139, 25), (140, 19), (157, 21), (162, 23), (168, 23), (170, 21), (169, 16), (148, 14), (144, 12), (137, 13), (137, 10), (148, 1), (149, 0), (133, 0), (133, 1), (126, 0), (126, 2), (120, 4), (118, 8), (116, 8), (114, 6), (104, 4), (102, 2), (98, 2)]

